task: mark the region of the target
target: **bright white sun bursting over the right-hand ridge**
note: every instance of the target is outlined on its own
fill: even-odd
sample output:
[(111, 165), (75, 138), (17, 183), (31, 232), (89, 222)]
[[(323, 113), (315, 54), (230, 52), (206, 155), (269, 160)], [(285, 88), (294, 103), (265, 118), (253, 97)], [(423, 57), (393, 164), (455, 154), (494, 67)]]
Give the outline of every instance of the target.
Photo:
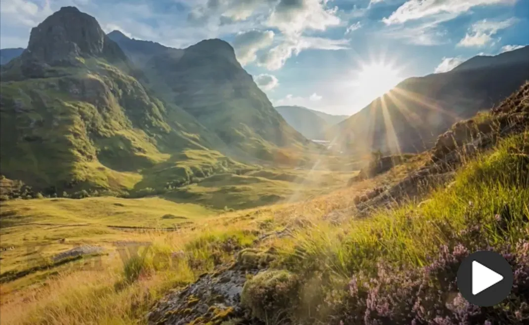
[(353, 84), (358, 94), (364, 98), (375, 99), (384, 95), (403, 80), (399, 70), (387, 63), (373, 62), (362, 64), (353, 74)]

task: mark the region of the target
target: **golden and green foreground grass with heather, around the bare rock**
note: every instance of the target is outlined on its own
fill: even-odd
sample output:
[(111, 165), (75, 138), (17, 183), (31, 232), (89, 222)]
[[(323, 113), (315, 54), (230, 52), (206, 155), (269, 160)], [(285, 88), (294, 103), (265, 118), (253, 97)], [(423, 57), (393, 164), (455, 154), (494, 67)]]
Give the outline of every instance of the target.
[[(87, 267), (94, 262), (86, 258), (21, 291), (24, 279), (2, 284), (2, 323), (144, 322), (169, 288), (195, 281), (250, 246), (277, 251), (272, 267), (251, 278), (242, 296), (253, 316), (268, 323), (523, 323), (528, 141), (526, 132), (481, 154), (419, 207), (409, 201), (340, 225), (322, 218), (350, 207), (352, 196), (377, 181), (368, 180), (303, 204), (226, 213), (171, 233), (130, 233), (136, 243), (153, 244), (125, 264), (120, 254), (110, 254), (101, 258), (102, 268)], [(256, 242), (259, 234), (285, 228), (293, 235)], [(476, 309), (455, 286), (458, 263), (478, 249), (501, 252), (515, 271), (512, 294), (496, 307)], [(175, 252), (182, 255), (175, 258)]]

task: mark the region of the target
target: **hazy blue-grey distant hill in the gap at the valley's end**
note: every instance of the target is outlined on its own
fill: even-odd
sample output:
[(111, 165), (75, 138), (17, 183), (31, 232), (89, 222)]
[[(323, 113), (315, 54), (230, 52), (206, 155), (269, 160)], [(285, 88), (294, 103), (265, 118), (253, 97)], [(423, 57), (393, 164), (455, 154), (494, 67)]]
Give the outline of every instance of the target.
[(277, 106), (276, 110), (288, 124), (307, 138), (314, 140), (326, 139), (326, 129), (348, 117), (330, 115), (302, 106)]

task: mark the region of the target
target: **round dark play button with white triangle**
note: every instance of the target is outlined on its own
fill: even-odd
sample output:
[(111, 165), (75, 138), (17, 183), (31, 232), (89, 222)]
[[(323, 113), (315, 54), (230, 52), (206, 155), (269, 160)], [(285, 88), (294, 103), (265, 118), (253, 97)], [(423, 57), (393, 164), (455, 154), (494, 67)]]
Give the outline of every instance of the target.
[(498, 253), (481, 250), (459, 266), (458, 287), (470, 303), (487, 307), (500, 303), (513, 286), (513, 271)]

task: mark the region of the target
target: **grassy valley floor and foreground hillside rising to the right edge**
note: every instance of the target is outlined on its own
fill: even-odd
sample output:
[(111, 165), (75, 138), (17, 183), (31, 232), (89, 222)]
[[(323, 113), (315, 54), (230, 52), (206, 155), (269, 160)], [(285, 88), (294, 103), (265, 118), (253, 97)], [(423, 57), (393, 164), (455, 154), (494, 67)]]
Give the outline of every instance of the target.
[[(294, 204), (217, 215), (158, 198), (7, 202), (0, 322), (525, 324), (528, 122), (526, 83), (414, 165)], [(157, 224), (172, 228), (125, 230)], [(514, 274), (491, 307), (457, 290), (478, 250)]]

